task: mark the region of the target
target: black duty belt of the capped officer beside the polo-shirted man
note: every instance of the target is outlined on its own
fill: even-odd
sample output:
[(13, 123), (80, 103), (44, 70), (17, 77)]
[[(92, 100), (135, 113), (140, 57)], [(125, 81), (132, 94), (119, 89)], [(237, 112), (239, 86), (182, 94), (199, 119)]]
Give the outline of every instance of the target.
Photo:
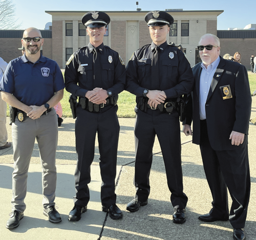
[(82, 109), (86, 109), (89, 112), (100, 112), (101, 108), (104, 108), (106, 106), (115, 106), (117, 104), (117, 101), (113, 97), (109, 97), (106, 99), (106, 103), (101, 104), (95, 104), (90, 102), (87, 98), (79, 98), (79, 105)]

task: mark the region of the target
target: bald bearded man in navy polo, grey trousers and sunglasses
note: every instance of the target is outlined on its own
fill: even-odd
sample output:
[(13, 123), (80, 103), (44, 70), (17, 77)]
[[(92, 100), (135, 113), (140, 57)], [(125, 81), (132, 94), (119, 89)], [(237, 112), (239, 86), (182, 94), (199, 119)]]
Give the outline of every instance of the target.
[(26, 53), (10, 61), (0, 83), (2, 98), (12, 106), (12, 114), (16, 115), (12, 123), (14, 171), (8, 229), (18, 227), (24, 217), (28, 169), (35, 138), (42, 165), (44, 214), (52, 223), (61, 221), (54, 202), (58, 125), (53, 106), (62, 99), (65, 85), (58, 64), (40, 54), (44, 39), (38, 29), (26, 29), (22, 44)]

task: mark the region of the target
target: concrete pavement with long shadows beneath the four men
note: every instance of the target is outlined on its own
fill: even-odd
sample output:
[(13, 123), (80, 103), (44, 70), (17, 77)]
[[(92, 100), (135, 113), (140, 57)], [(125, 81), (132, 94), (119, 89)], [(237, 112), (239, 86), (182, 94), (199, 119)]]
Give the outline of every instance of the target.
[[(251, 118), (256, 117), (256, 97), (252, 97)], [(8, 119), (9, 121), (9, 119)], [(126, 204), (135, 194), (134, 176), (134, 118), (119, 118), (120, 138), (118, 147), (116, 194), (117, 205), (123, 210), (123, 219), (114, 221), (108, 214), (101, 211), (100, 203), (100, 170), (99, 152), (96, 141), (95, 158), (91, 167), (92, 182), (90, 183), (91, 200), (88, 211), (82, 214), (79, 222), (69, 222), (68, 214), (73, 207), (74, 171), (76, 164), (74, 122), (65, 118), (59, 127), (57, 149), (57, 189), (56, 205), (62, 216), (62, 222), (53, 224), (42, 214), (41, 166), (37, 143), (31, 158), (28, 177), (27, 209), (19, 227), (8, 230), (6, 221), (11, 212), (12, 196), (12, 147), (0, 150), (0, 194), (1, 210), (0, 239), (232, 239), (232, 227), (229, 222), (203, 223), (198, 220), (200, 214), (207, 213), (211, 208), (211, 194), (207, 185), (199, 146), (189, 142), (191, 137), (181, 133), (182, 169), (184, 193), (188, 196), (186, 208), (187, 221), (178, 225), (172, 222), (173, 207), (170, 204), (170, 193), (167, 187), (165, 169), (161, 153), (153, 158), (150, 176), (151, 194), (148, 205), (131, 213), (125, 210)], [(12, 142), (11, 126), (8, 128), (8, 141)], [(187, 142), (187, 143), (186, 143)], [(251, 197), (245, 231), (247, 239), (256, 239), (256, 126), (249, 127), (249, 160), (251, 172)], [(160, 152), (156, 139), (154, 153)], [(229, 201), (231, 202), (231, 200)]]

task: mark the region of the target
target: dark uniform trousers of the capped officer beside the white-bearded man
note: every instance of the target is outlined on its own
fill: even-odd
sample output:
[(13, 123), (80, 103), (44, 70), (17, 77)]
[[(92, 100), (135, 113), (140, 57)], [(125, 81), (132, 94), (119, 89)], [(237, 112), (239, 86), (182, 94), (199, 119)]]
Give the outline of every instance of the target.
[(135, 198), (145, 202), (150, 195), (150, 170), (153, 159), (153, 145), (157, 135), (167, 176), (170, 201), (173, 206), (185, 208), (187, 196), (183, 193), (181, 168), (181, 140), (179, 115), (147, 109), (138, 109), (135, 123)]

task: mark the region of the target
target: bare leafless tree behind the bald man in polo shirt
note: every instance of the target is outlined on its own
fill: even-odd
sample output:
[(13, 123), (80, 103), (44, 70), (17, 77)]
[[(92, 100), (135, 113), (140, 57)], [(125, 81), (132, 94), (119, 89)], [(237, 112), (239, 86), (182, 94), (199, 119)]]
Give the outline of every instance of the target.
[(12, 0), (0, 0), (0, 30), (19, 28), (22, 23), (16, 24), (16, 21)]

